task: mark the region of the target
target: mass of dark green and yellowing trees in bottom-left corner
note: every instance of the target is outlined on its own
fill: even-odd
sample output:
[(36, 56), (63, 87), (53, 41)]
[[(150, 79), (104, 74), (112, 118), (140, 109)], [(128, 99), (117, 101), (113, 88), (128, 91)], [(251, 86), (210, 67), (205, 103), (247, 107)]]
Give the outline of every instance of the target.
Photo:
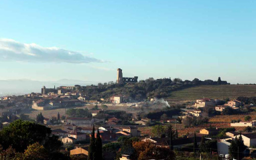
[(1, 153), (13, 159), (67, 159), (58, 152), (62, 142), (50, 133), (50, 128), (43, 125), (14, 121), (0, 131)]

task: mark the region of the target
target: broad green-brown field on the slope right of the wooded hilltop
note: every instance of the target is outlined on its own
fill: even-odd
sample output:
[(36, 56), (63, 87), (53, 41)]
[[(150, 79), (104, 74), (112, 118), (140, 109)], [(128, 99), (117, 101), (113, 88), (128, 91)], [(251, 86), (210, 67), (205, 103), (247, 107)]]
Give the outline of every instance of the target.
[(196, 86), (172, 92), (166, 100), (196, 100), (198, 98), (237, 98), (256, 96), (256, 85)]

